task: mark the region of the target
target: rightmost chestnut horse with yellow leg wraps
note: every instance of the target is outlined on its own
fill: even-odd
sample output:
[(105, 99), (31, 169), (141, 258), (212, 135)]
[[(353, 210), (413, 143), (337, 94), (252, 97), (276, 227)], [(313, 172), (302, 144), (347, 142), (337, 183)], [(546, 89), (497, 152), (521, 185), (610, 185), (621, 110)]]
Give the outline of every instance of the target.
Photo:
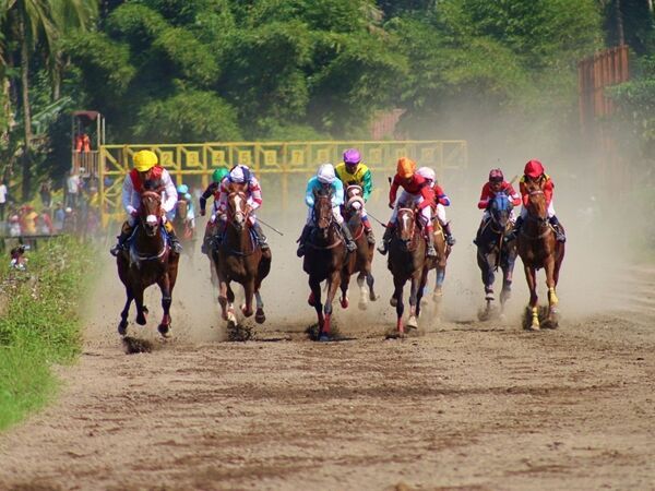
[(548, 315), (545, 326), (557, 327), (558, 325), (558, 298), (555, 289), (564, 259), (564, 244), (556, 240), (555, 230), (548, 223), (548, 205), (541, 185), (539, 181), (526, 181), (527, 217), (516, 239), (519, 255), (523, 261), (525, 279), (529, 288), (532, 322), (526, 322), (526, 327), (532, 331), (536, 331), (540, 326), (536, 272), (541, 267), (546, 271), (546, 285), (548, 286)]

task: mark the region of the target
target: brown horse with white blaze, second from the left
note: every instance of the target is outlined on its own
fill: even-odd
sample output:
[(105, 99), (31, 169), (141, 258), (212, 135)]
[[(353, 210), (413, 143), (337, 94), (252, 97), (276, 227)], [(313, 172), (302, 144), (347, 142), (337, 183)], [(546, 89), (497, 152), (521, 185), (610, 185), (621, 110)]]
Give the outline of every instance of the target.
[(246, 303), (241, 306), (245, 316), (251, 316), (252, 296), (257, 298), (254, 320), (262, 324), (266, 320), (260, 294), (262, 280), (271, 272), (271, 251), (262, 251), (250, 231), (250, 207), (243, 184), (230, 184), (227, 196), (227, 223), (218, 248), (211, 251), (216, 276), (218, 276), (218, 303), (228, 327), (237, 325), (230, 282), (243, 286)]

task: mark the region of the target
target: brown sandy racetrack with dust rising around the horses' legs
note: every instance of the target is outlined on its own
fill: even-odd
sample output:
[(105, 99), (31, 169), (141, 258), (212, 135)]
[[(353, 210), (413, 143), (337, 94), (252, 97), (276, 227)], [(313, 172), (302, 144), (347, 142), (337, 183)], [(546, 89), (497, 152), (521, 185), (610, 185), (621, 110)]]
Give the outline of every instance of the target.
[(300, 263), (272, 238), (259, 340), (223, 342), (198, 256), (181, 266), (172, 340), (155, 334), (151, 290), (148, 325), (130, 333), (155, 349), (128, 356), (108, 270), (60, 398), (0, 436), (0, 489), (654, 489), (655, 271), (600, 277), (572, 248), (560, 328), (528, 333), (520, 263), (507, 320), (477, 321), (473, 232), (458, 232), (440, 315), (404, 340), (383, 337), (395, 313), (379, 255), (380, 301), (335, 306), (346, 340), (308, 340)]

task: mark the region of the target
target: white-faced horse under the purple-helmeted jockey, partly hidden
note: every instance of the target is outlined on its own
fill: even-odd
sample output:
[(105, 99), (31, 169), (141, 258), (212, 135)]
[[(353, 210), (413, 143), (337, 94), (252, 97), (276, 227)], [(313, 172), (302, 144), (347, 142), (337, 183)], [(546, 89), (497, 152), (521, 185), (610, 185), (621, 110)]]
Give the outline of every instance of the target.
[(348, 256), (348, 260), (344, 263), (344, 270), (342, 272), (341, 290), (342, 298), (341, 304), (344, 309), (348, 307), (348, 286), (350, 284), (350, 276), (355, 273), (357, 275), (357, 285), (359, 286), (359, 309), (366, 310), (367, 291), (364, 286), (366, 280), (369, 291), (368, 299), (371, 301), (378, 300), (376, 290), (373, 289), (374, 278), (371, 274), (371, 263), (373, 261), (374, 244), (369, 243), (366, 233), (364, 232), (364, 224), (361, 223), (361, 209), (364, 208), (364, 200), (361, 197), (361, 187), (348, 185), (346, 189), (346, 204), (344, 206), (345, 219), (348, 223), (353, 240), (357, 244), (357, 250)]

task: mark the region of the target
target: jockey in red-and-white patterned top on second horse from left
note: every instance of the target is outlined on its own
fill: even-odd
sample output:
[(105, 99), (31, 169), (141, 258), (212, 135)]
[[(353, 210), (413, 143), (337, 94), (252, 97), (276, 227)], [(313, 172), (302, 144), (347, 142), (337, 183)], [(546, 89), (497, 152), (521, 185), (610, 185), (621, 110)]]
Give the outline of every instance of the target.
[[(235, 184), (246, 184), (246, 195), (247, 195), (247, 207), (249, 209), (248, 221), (250, 223), (250, 227), (254, 232), (257, 238), (257, 242), (262, 251), (269, 249), (269, 243), (266, 242), (266, 237), (262, 231), (262, 227), (259, 221), (257, 221), (257, 215), (254, 211), (258, 209), (262, 205), (262, 189), (260, 188), (259, 181), (254, 177), (252, 170), (242, 164), (237, 164), (229, 171), (227, 177), (221, 181), (218, 187), (218, 200), (214, 200), (214, 208), (216, 211), (216, 217), (222, 221), (223, 227), (222, 230), (225, 230), (227, 226), (227, 196), (229, 195), (229, 185), (231, 183)], [(214, 221), (214, 215), (212, 215), (212, 221)], [(218, 238), (218, 240), (221, 240)]]

